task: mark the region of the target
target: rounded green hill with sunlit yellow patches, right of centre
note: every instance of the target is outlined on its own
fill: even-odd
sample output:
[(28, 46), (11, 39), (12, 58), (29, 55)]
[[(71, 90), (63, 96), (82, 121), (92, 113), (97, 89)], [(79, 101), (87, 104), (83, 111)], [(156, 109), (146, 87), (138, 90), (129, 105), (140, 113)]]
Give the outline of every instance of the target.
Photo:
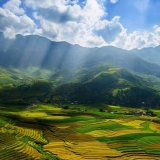
[[(51, 94), (53, 102), (107, 103), (132, 107), (160, 105), (159, 92), (130, 72), (115, 67), (99, 66), (82, 74), (79, 82), (57, 87)], [(144, 106), (143, 106), (144, 107)]]

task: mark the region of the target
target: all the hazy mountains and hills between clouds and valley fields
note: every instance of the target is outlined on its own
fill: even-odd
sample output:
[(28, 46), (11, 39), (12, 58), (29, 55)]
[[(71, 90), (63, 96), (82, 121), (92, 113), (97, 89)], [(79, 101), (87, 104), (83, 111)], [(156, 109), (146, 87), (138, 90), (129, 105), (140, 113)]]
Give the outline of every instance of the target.
[[(130, 51), (112, 46), (84, 48), (35, 35), (5, 39), (2, 33), (0, 44), (1, 78), (11, 84), (7, 94), (5, 89), (1, 91), (1, 103), (27, 104), (38, 99), (133, 107), (142, 102), (152, 107), (160, 104), (160, 56), (153, 56), (158, 55), (159, 47)], [(148, 82), (143, 78), (146, 75), (151, 79)], [(23, 79), (34, 81), (34, 77), (50, 84), (36, 82), (15, 88)]]

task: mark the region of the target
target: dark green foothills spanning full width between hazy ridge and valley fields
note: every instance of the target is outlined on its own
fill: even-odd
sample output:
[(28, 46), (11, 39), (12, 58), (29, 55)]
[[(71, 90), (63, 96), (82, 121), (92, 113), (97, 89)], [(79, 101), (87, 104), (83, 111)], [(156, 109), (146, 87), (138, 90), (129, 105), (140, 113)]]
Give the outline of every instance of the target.
[[(63, 72), (61, 74), (64, 75)], [(0, 104), (22, 106), (37, 102), (76, 101), (138, 108), (160, 106), (159, 91), (155, 90), (151, 83), (122, 68), (100, 65), (80, 70), (77, 75), (71, 76), (70, 80), (64, 80), (57, 85), (54, 85), (55, 80), (55, 77), (50, 82), (33, 79), (30, 83), (23, 82), (18, 85), (13, 85), (14, 81), (11, 81), (10, 85), (0, 89)]]

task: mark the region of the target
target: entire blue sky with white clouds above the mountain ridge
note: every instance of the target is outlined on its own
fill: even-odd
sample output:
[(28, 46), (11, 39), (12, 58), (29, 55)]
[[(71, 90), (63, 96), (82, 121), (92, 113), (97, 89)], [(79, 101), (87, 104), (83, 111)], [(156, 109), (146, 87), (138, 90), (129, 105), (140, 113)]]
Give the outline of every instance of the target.
[(0, 32), (85, 47), (160, 45), (160, 0), (0, 0)]

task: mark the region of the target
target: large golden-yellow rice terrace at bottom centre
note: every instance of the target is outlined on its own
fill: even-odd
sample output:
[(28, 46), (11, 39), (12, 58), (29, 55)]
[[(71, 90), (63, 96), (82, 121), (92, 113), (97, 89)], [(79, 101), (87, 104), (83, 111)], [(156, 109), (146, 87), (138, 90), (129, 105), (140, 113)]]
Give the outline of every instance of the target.
[(45, 145), (44, 149), (62, 159), (101, 159), (105, 156), (120, 155), (120, 152), (110, 149), (107, 144), (72, 129), (59, 130), (57, 134), (47, 130), (45, 134), (50, 143)]

